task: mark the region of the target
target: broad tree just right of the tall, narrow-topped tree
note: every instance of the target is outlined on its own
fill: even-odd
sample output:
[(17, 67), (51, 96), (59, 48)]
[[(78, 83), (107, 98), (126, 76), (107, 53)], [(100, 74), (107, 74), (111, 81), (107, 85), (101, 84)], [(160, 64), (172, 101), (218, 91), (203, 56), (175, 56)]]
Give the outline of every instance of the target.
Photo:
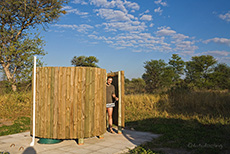
[(216, 63), (217, 61), (210, 55), (192, 57), (191, 61), (186, 62), (186, 81), (199, 88), (205, 87)]

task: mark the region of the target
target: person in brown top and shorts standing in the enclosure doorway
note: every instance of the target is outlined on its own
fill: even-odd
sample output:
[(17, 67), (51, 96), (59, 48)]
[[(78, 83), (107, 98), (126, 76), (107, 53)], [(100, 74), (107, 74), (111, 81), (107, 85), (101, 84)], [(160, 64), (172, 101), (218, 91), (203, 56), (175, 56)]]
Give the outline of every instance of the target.
[(115, 107), (115, 103), (113, 102), (113, 98), (118, 101), (118, 98), (115, 95), (115, 87), (112, 85), (113, 78), (108, 77), (106, 84), (106, 109), (108, 112), (108, 121), (109, 121), (109, 132), (114, 133), (112, 125), (113, 125), (113, 107)]

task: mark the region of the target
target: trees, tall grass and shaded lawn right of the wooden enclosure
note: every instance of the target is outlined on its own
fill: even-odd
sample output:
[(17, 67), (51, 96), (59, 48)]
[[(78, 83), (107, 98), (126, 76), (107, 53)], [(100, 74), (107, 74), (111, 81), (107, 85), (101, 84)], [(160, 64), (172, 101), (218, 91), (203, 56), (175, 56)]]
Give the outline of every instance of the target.
[(230, 67), (209, 55), (145, 62), (126, 79), (126, 126), (162, 134), (129, 153), (230, 153)]

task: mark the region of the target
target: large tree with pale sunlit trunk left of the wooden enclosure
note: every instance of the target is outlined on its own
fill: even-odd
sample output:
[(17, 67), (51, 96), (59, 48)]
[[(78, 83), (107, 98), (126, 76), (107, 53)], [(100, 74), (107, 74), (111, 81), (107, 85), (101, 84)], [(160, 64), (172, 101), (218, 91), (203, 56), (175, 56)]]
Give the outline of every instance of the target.
[(37, 25), (45, 28), (58, 19), (65, 13), (65, 3), (66, 0), (0, 1), (0, 63), (13, 91), (18, 82), (31, 74), (33, 56), (45, 55), (44, 41), (28, 30)]

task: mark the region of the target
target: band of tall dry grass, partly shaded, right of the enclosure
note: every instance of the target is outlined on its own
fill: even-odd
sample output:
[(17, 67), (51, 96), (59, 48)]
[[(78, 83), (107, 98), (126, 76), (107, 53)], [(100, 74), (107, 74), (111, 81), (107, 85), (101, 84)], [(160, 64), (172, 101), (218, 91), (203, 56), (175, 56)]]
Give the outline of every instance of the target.
[(196, 119), (202, 123), (230, 123), (227, 91), (169, 92), (125, 96), (126, 121), (155, 117)]

